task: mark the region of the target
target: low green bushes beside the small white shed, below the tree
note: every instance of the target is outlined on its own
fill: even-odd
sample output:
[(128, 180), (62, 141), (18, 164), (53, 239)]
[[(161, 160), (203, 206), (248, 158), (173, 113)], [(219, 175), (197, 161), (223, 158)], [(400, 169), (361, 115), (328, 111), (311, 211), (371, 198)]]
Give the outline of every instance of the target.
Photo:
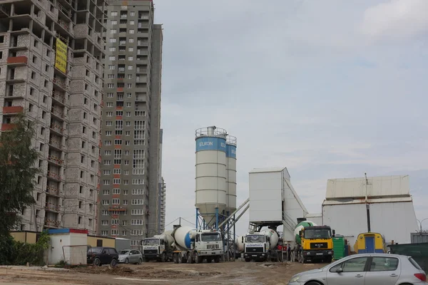
[(44, 252), (49, 249), (49, 235), (42, 232), (36, 244), (16, 242), (11, 236), (0, 237), (0, 265), (44, 266)]

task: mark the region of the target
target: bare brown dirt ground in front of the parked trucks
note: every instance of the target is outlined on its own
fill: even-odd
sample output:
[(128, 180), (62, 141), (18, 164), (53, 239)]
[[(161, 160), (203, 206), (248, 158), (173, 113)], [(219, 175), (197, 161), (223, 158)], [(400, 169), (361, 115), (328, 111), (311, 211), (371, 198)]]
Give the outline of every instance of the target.
[(0, 284), (16, 285), (118, 285), (118, 284), (287, 284), (296, 273), (325, 264), (246, 263), (173, 264), (148, 262), (80, 267), (70, 270), (30, 270), (27, 267), (0, 268)]

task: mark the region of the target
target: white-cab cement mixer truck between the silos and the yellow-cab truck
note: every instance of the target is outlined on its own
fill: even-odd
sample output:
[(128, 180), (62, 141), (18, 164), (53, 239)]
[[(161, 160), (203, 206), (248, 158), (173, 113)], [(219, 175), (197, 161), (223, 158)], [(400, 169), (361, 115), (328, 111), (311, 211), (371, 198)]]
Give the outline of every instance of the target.
[(238, 249), (244, 252), (246, 262), (270, 261), (272, 251), (276, 248), (279, 235), (273, 229), (263, 229), (253, 234), (238, 238)]

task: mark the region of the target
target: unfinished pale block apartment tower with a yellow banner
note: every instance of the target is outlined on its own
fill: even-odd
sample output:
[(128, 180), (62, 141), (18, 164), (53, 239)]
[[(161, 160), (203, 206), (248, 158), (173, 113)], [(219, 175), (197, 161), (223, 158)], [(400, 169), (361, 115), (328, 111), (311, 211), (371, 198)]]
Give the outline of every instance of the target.
[(1, 131), (35, 120), (36, 204), (21, 230), (96, 231), (103, 0), (0, 1)]

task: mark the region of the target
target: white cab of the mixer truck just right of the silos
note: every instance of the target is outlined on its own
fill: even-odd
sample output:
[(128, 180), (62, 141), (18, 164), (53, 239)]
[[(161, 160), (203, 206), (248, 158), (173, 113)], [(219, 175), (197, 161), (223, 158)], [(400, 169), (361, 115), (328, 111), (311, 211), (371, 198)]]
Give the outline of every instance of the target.
[(270, 259), (270, 238), (265, 234), (255, 232), (242, 237), (244, 244), (244, 259), (267, 261)]

